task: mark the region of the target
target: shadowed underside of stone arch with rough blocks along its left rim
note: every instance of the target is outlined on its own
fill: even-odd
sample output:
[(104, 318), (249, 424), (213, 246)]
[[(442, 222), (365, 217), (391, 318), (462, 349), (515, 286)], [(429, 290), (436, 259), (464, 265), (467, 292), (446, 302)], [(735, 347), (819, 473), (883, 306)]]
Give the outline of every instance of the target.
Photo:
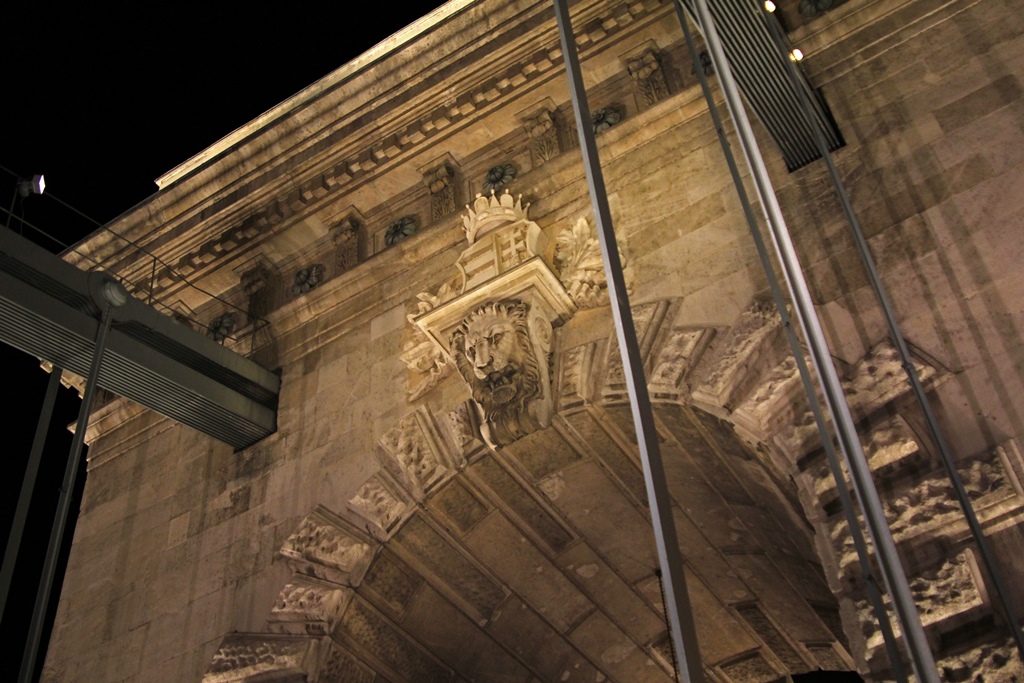
[[(715, 375), (700, 369), (716, 331), (677, 328), (677, 308), (637, 316), (709, 674), (849, 669), (791, 503), (731, 430), (685, 404), (693, 377)], [(366, 677), (353, 680), (672, 680), (617, 351), (606, 338), (556, 356), (550, 426), (490, 449), (471, 401), (414, 411), (349, 509), (318, 509), (289, 539), (296, 573), (267, 629), (321, 643), (309, 680), (348, 680), (323, 670), (342, 659)], [(232, 638), (231, 651), (260, 642)]]

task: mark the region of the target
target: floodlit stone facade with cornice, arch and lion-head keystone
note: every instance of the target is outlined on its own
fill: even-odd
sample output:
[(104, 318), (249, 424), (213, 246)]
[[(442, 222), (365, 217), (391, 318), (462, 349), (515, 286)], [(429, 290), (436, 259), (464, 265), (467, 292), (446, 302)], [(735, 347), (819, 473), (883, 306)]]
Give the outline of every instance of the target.
[[(1024, 614), (1021, 8), (779, 4)], [(708, 678), (885, 679), (675, 11), (573, 16)], [(279, 429), (95, 412), (44, 680), (674, 680), (562, 67), (548, 3), (453, 0), (112, 225), (169, 314), (280, 369)], [(940, 669), (1020, 680), (825, 171), (762, 138)]]

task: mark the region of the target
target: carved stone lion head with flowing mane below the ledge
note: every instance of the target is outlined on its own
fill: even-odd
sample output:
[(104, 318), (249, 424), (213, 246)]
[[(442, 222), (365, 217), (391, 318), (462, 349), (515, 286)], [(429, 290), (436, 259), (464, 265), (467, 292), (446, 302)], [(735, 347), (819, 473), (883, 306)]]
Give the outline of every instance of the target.
[(528, 310), (514, 299), (485, 303), (470, 311), (450, 339), (456, 367), (483, 412), (484, 436), (493, 445), (511, 443), (540, 426), (529, 411), (543, 387)]

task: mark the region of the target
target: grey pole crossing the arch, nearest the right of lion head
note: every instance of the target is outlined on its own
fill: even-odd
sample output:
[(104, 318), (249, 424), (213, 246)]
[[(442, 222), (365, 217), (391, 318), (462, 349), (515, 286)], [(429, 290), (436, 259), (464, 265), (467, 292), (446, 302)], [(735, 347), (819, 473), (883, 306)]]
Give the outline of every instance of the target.
[(566, 0), (553, 1), (555, 16), (558, 20), (558, 33), (561, 38), (562, 55), (565, 58), (565, 73), (572, 96), (572, 109), (575, 112), (577, 130), (580, 133), (584, 169), (587, 173), (587, 184), (590, 188), (594, 218), (597, 222), (601, 257), (604, 260), (604, 274), (608, 282), (608, 295), (615, 321), (615, 334), (623, 357), (623, 370), (630, 396), (630, 407), (633, 411), (637, 446), (643, 462), (647, 501), (650, 505), (651, 522), (654, 527), (654, 542), (657, 546), (658, 562), (665, 579), (665, 594), (668, 605), (666, 616), (669, 620), (670, 637), (676, 650), (676, 659), (682, 680), (685, 683), (702, 683), (703, 669), (700, 666), (696, 628), (693, 624), (689, 594), (686, 591), (683, 556), (679, 549), (679, 539), (676, 536), (676, 525), (672, 516), (672, 499), (665, 480), (665, 467), (662, 462), (657, 431), (654, 427), (654, 413), (650, 405), (650, 396), (647, 394), (647, 380), (643, 373), (643, 361), (633, 324), (633, 313), (630, 310), (629, 295), (626, 292), (622, 259), (615, 244), (611, 211), (608, 208), (604, 176), (601, 173), (597, 143), (590, 120), (590, 108), (587, 103), (583, 74), (580, 70), (580, 57), (577, 54), (575, 39), (572, 35), (572, 23)]

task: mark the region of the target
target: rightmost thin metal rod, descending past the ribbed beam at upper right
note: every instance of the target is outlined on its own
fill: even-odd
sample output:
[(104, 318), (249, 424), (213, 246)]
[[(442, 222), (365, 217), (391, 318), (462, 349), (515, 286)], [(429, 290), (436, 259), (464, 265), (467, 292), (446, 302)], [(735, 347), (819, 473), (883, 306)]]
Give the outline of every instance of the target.
[[(768, 25), (768, 32), (775, 41), (775, 45), (778, 47), (779, 51), (785, 55), (788, 50), (785, 47), (781, 32), (775, 24), (775, 20), (766, 14), (762, 14), (762, 16), (765, 24)], [(853, 204), (850, 202), (850, 197), (846, 193), (846, 186), (843, 184), (843, 179), (840, 177), (839, 169), (836, 168), (836, 163), (833, 161), (831, 154), (828, 152), (828, 145), (821, 134), (819, 123), (816, 117), (814, 117), (813, 103), (811, 102), (810, 94), (807, 92), (807, 86), (804, 80), (800, 78), (800, 74), (797, 72), (797, 67), (790, 59), (785, 59), (785, 66), (786, 73), (790, 76), (791, 85), (793, 85), (793, 89), (796, 92), (797, 97), (800, 99), (804, 116), (807, 118), (811, 131), (814, 133), (814, 141), (818, 146), (818, 153), (825, 162), (825, 166), (828, 169), (828, 175), (831, 177), (833, 185), (836, 187), (836, 195), (839, 197), (840, 203), (843, 205), (843, 213), (846, 214), (846, 219), (850, 223), (850, 231), (853, 233), (853, 239), (857, 245), (857, 251), (860, 253), (860, 259), (864, 264), (864, 269), (867, 271), (867, 279), (871, 283), (871, 289), (874, 290), (874, 296), (878, 298), (879, 304), (882, 306), (882, 310), (885, 314), (886, 325), (889, 328), (889, 335), (892, 337), (893, 342), (896, 345), (896, 349), (899, 352), (903, 371), (906, 373), (907, 381), (910, 384), (913, 395), (918, 399), (918, 403), (921, 405), (922, 412), (925, 414), (925, 422), (928, 425), (928, 432), (932, 437), (932, 441), (939, 451), (939, 457), (942, 461), (942, 465), (945, 467), (949, 480), (952, 482), (953, 490), (956, 493), (956, 500), (959, 502), (961, 508), (964, 510), (964, 516), (967, 518), (968, 526), (971, 528), (971, 533), (974, 536), (975, 543), (978, 544), (978, 550), (981, 553), (981, 558), (985, 564), (985, 568), (988, 569), (988, 575), (992, 580), (995, 593), (999, 596), (999, 604), (1002, 607), (1007, 624), (1010, 626), (1010, 630), (1013, 633), (1014, 642), (1017, 644), (1018, 656), (1020, 656), (1021, 660), (1024, 661), (1024, 636), (1021, 634), (1020, 625), (1018, 624), (1017, 616), (1014, 613), (1013, 602), (1010, 599), (1010, 592), (1007, 590), (1006, 582), (1002, 580), (1002, 575), (995, 563), (995, 557), (988, 545), (988, 541), (985, 539), (985, 532), (981, 528), (981, 523), (978, 521), (977, 514), (975, 514), (974, 506), (971, 504), (971, 499), (968, 496), (967, 489), (964, 487), (964, 481), (961, 479), (959, 472), (956, 470), (952, 453), (949, 451), (949, 446), (942, 435), (942, 430), (939, 428), (938, 420), (932, 412), (932, 403), (925, 393), (925, 387), (921, 383), (921, 377), (918, 375), (918, 369), (913, 366), (913, 359), (910, 356), (910, 349), (907, 348), (906, 340), (903, 338), (903, 333), (900, 330), (899, 323), (896, 321), (896, 313), (893, 311), (892, 303), (889, 300), (889, 294), (886, 291), (886, 286), (883, 284), (882, 276), (879, 274), (878, 267), (874, 264), (874, 258), (871, 256), (870, 249), (867, 247), (867, 240), (864, 239), (864, 231), (860, 227), (860, 221), (857, 219), (857, 214), (853, 210)]]

